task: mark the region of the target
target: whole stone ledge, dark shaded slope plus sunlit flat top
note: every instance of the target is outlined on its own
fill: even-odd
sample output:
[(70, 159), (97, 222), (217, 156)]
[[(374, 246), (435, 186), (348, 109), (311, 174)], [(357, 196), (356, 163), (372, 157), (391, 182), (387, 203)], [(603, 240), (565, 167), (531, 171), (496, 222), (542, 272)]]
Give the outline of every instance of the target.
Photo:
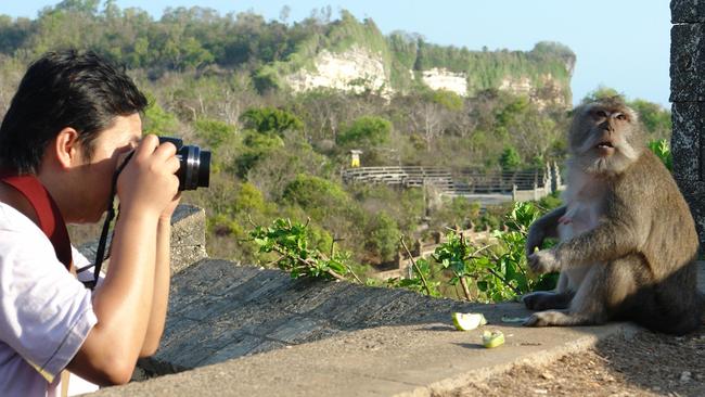
[[(489, 324), (456, 331), (452, 311), (483, 312)], [(638, 331), (625, 323), (533, 329), (501, 321), (528, 315), (514, 303), (434, 299), (202, 260), (175, 276), (163, 345), (152, 367), (143, 366), (184, 372), (98, 395), (430, 396)], [(501, 330), (507, 343), (485, 349), (484, 330)]]

